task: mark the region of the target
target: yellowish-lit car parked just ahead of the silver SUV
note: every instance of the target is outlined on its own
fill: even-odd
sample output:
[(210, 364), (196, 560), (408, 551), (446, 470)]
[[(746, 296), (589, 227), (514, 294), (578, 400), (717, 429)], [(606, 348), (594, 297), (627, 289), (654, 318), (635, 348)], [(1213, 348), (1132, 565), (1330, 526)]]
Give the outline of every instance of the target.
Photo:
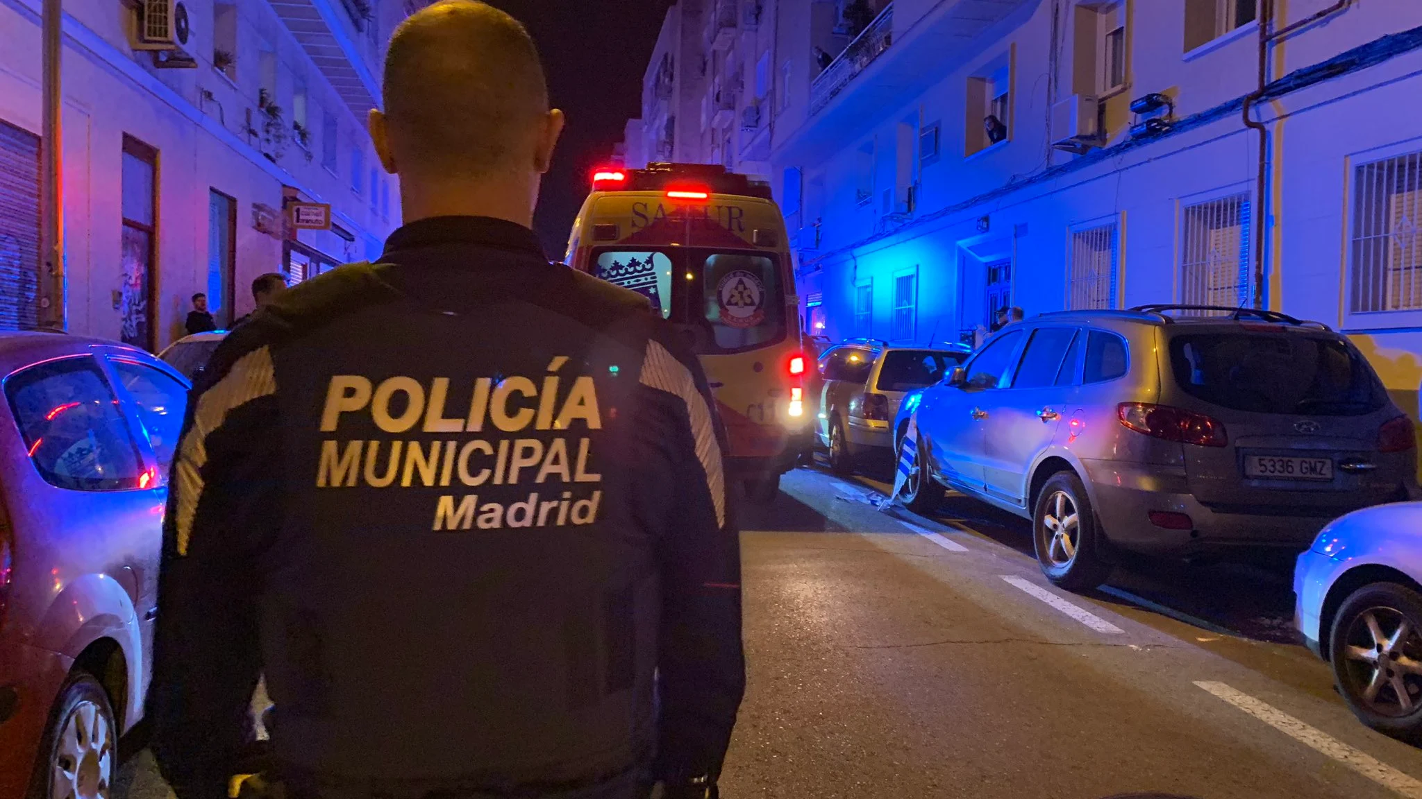
[(886, 341), (852, 338), (820, 353), (816, 436), (839, 473), (853, 471), (862, 455), (893, 452), (889, 419), (903, 395), (933, 385), (967, 360), (967, 347), (890, 347)]

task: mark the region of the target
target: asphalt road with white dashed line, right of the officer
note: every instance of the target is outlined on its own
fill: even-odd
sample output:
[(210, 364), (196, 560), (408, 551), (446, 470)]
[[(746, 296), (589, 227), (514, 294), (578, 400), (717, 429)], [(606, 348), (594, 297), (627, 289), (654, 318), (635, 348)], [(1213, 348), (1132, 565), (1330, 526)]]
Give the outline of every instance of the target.
[[(749, 688), (722, 795), (1422, 799), (1288, 631), (1283, 564), (1048, 587), (1027, 525), (948, 496), (880, 512), (816, 469), (742, 512)], [(119, 798), (161, 799), (146, 754)]]

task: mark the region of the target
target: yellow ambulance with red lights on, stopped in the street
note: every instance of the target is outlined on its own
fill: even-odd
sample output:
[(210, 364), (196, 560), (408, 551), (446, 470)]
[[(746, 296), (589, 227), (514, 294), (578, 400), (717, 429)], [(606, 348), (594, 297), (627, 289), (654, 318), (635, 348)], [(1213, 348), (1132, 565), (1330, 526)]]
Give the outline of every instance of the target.
[(769, 500), (812, 444), (785, 219), (764, 182), (705, 163), (593, 173), (566, 263), (647, 297), (700, 355), (728, 476)]

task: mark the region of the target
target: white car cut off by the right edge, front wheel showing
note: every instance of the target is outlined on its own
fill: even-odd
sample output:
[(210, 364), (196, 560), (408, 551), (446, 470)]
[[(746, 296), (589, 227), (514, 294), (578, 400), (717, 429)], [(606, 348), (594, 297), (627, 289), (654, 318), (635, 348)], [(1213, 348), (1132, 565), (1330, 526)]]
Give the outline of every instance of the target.
[(1368, 726), (1422, 742), (1422, 502), (1331, 522), (1294, 569), (1294, 621)]

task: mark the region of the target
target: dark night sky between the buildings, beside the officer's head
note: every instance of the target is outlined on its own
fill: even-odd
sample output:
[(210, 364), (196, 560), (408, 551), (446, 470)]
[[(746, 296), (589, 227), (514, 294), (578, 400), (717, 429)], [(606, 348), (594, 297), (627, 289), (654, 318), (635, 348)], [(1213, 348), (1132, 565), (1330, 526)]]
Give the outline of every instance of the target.
[(611, 156), (627, 119), (641, 115), (641, 74), (673, 0), (491, 3), (529, 28), (553, 105), (567, 114), (533, 220), (547, 256), (560, 260), (592, 169)]

